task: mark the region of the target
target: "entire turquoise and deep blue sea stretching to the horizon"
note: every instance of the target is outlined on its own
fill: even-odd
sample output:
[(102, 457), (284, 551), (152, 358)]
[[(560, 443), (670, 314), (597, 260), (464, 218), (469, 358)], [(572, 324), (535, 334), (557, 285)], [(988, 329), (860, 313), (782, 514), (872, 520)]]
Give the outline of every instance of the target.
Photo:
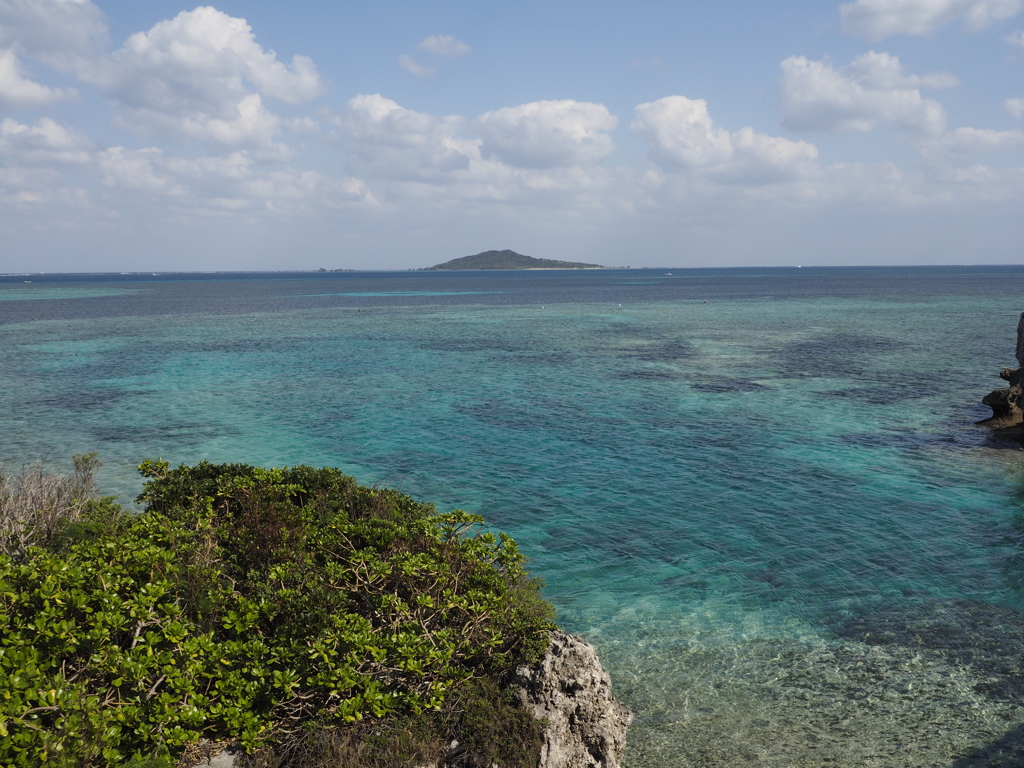
[(126, 502), (163, 457), (478, 511), (597, 646), (632, 768), (1010, 765), (1022, 455), (974, 422), (1022, 292), (1019, 267), (0, 278), (3, 458), (98, 451)]

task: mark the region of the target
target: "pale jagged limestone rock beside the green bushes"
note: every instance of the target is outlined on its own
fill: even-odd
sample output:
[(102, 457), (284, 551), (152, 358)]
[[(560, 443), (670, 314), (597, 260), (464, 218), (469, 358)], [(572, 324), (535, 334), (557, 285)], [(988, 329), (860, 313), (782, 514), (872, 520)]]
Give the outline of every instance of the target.
[(539, 768), (618, 768), (633, 714), (611, 695), (594, 646), (553, 632), (544, 659), (516, 670), (513, 690), (548, 721)]

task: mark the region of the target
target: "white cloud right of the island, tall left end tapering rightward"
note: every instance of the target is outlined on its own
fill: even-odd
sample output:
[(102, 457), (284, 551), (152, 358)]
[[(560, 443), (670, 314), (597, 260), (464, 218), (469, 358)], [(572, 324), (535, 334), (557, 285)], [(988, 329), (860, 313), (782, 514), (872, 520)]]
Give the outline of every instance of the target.
[(814, 144), (750, 127), (734, 133), (717, 128), (702, 98), (666, 96), (640, 104), (631, 128), (647, 139), (656, 165), (717, 181), (756, 185), (806, 177), (817, 169)]

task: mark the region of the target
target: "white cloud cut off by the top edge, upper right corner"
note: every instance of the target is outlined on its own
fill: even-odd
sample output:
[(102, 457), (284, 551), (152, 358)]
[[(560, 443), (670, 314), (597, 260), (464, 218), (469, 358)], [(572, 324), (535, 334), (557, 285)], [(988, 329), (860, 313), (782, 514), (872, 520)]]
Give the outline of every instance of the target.
[(844, 32), (868, 40), (930, 35), (956, 22), (978, 31), (1021, 10), (1024, 0), (856, 0), (840, 6)]

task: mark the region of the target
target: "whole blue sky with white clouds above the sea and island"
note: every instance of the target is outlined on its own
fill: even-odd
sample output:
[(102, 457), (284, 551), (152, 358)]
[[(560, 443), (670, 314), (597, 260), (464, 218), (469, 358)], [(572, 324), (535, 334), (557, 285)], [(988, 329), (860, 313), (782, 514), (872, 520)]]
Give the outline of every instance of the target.
[(0, 0), (0, 272), (1024, 261), (1024, 0)]

